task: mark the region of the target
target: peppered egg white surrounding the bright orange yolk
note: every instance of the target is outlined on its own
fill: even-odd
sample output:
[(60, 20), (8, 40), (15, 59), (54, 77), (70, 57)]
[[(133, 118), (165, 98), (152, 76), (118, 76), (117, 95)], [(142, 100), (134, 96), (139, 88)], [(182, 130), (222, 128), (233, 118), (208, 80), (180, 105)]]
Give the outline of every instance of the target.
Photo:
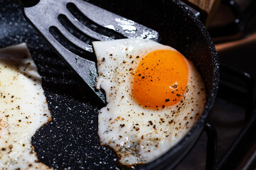
[(104, 89), (107, 106), (98, 115), (101, 145), (114, 149), (121, 164), (145, 164), (181, 140), (203, 112), (206, 91), (193, 63), (188, 64), (187, 93), (174, 106), (140, 106), (132, 95), (139, 62), (154, 50), (175, 50), (151, 40), (92, 42), (97, 57), (97, 89)]

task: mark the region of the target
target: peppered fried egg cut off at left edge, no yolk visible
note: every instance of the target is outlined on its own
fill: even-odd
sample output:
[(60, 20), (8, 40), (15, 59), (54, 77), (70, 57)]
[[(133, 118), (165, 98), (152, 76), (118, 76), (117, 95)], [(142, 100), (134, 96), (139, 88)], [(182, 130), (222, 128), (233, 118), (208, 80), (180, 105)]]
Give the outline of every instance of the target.
[(0, 169), (51, 169), (31, 137), (50, 121), (41, 77), (25, 43), (0, 50)]

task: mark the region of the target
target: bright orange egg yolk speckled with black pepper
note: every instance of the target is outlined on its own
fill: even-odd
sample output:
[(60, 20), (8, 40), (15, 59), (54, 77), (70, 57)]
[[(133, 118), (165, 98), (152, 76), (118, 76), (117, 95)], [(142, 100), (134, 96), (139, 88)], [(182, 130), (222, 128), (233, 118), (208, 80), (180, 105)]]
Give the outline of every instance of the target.
[(150, 52), (137, 67), (134, 98), (149, 108), (164, 108), (181, 100), (188, 83), (188, 65), (181, 53), (172, 50)]

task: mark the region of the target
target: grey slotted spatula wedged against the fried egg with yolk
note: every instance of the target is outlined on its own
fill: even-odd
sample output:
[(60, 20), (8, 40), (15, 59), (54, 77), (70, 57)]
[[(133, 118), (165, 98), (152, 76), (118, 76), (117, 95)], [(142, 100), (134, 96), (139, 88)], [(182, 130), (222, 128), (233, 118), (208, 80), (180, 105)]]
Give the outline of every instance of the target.
[(105, 103), (105, 95), (102, 91), (95, 90), (95, 82), (97, 77), (97, 67), (95, 62), (87, 60), (83, 57), (75, 55), (75, 53), (64, 47), (50, 33), (50, 28), (58, 30), (60, 37), (65, 39), (73, 46), (92, 52), (92, 46), (83, 42), (70, 33), (67, 28), (59, 21), (59, 16), (65, 16), (68, 22), (72, 23), (76, 29), (85, 35), (90, 36), (94, 40), (112, 40), (112, 38), (95, 32), (81, 23), (78, 18), (75, 18), (73, 13), (68, 10), (68, 5), (73, 5), (83, 16), (89, 18), (90, 22), (114, 30), (126, 38), (146, 38), (159, 41), (159, 33), (151, 30), (146, 26), (135, 23), (127, 18), (118, 16), (117, 14), (106, 11), (82, 0), (19, 0), (23, 6), (23, 15), (29, 23), (40, 33), (43, 38), (50, 44), (55, 52), (60, 55), (70, 67), (85, 81), (85, 83), (97, 94), (97, 96)]

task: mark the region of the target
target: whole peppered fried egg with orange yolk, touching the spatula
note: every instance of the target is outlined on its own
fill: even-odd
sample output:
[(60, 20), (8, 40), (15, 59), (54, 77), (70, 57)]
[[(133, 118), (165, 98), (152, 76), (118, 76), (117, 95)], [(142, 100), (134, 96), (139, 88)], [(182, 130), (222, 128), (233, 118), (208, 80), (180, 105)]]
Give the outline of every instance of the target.
[(191, 130), (206, 104), (206, 89), (191, 61), (173, 47), (151, 40), (92, 42), (97, 89), (107, 106), (98, 115), (101, 145), (119, 163), (146, 164)]

